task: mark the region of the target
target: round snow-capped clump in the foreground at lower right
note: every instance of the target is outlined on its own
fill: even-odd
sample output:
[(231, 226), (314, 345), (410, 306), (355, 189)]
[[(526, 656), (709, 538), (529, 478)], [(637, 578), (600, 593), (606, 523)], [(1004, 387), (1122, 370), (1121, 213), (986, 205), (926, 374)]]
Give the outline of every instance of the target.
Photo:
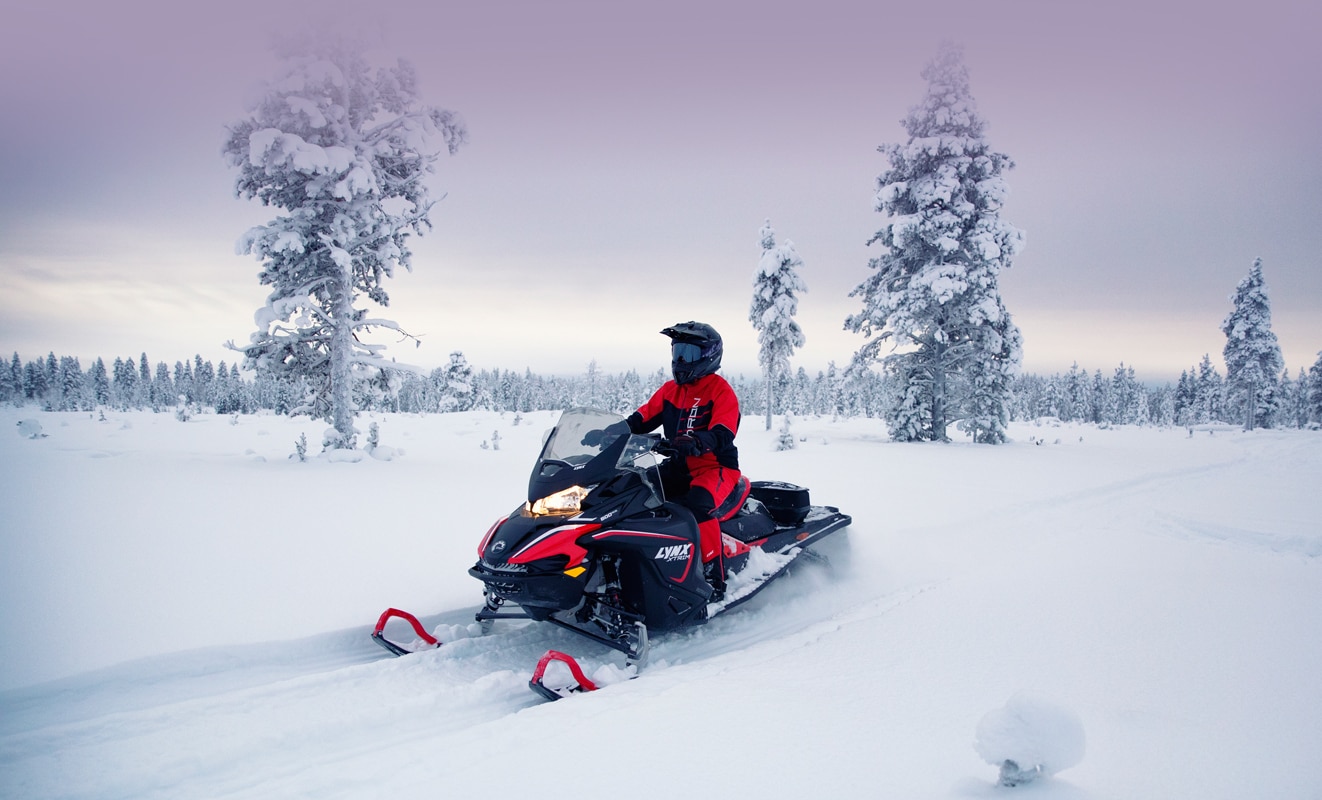
[(1068, 709), (1019, 692), (982, 717), (973, 747), (1001, 768), (1001, 785), (1018, 785), (1083, 760), (1083, 722)]

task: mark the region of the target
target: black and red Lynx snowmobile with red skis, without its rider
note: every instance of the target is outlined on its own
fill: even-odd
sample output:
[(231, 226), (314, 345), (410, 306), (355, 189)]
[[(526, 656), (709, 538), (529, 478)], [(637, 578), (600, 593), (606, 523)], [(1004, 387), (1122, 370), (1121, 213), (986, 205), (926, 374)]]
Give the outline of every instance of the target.
[[(805, 488), (740, 477), (714, 514), (727, 575), (718, 591), (703, 571), (697, 520), (665, 497), (660, 469), (672, 456), (665, 439), (628, 432), (619, 414), (563, 411), (533, 467), (527, 501), (492, 525), (468, 570), (484, 587), (476, 614), (483, 629), (497, 620), (545, 621), (641, 668), (653, 633), (702, 624), (747, 602), (851, 521), (837, 508), (810, 505)], [(439, 647), (394, 608), (373, 632), (378, 644), (408, 652), (382, 633), (395, 616)], [(576, 680), (568, 688), (543, 682), (551, 661), (570, 666)], [(530, 686), (550, 700), (592, 688), (572, 657), (557, 651), (538, 664)]]

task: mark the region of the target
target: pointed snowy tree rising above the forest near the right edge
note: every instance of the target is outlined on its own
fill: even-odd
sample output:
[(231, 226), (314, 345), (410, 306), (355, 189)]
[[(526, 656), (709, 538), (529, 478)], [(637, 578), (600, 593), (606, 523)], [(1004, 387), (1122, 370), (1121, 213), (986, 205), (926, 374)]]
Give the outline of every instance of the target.
[(1276, 409), (1276, 383), (1285, 360), (1272, 332), (1272, 301), (1263, 280), (1263, 259), (1253, 259), (1248, 275), (1235, 287), (1231, 301), (1235, 309), (1222, 323), (1225, 381), (1240, 393), (1244, 430), (1269, 427)]

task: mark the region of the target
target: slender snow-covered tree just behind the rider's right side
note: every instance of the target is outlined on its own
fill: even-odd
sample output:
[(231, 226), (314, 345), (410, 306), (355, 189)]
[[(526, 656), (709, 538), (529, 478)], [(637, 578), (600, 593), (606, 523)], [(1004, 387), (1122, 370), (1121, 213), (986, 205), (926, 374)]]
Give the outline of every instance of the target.
[(789, 357), (804, 346), (804, 332), (795, 321), (798, 295), (808, 291), (798, 270), (802, 259), (795, 243), (776, 243), (771, 220), (761, 226), (761, 258), (752, 274), (752, 303), (748, 321), (758, 332), (758, 362), (767, 381), (767, 430), (775, 413), (775, 386), (789, 377)]

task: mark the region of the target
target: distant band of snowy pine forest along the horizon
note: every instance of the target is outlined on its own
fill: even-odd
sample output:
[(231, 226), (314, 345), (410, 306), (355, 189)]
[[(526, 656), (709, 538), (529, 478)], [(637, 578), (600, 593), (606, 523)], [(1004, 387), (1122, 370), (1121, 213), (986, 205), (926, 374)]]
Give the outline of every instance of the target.
[[(473, 369), (463, 353), (427, 372), (394, 370), (383, 381), (360, 385), (357, 401), (365, 411), (440, 414), (447, 411), (513, 411), (594, 406), (615, 411), (639, 407), (668, 378), (664, 369), (607, 374), (588, 364), (576, 376), (541, 376), (530, 370)], [(765, 413), (765, 382), (760, 376), (727, 376), (746, 417)], [(903, 391), (895, 376), (846, 376), (834, 365), (809, 374), (798, 368), (776, 389), (776, 413), (793, 417), (884, 418)], [(1023, 374), (1010, 383), (1010, 418), (1015, 422), (1059, 419), (1100, 426), (1241, 424), (1244, 393), (1228, 382), (1211, 356), (1185, 370), (1174, 385), (1140, 381), (1124, 364), (1109, 372), (1079, 365), (1052, 376)], [(301, 394), (297, 381), (270, 376), (250, 380), (238, 365), (213, 366), (201, 356), (190, 361), (152, 365), (145, 353), (114, 358), (107, 368), (98, 357), (83, 368), (77, 357), (49, 353), (24, 360), (19, 353), (0, 365), (0, 403), (49, 411), (98, 409), (149, 410), (186, 419), (193, 414), (286, 414)], [(1309, 370), (1282, 370), (1266, 394), (1260, 427), (1322, 426), (1322, 356)]]

